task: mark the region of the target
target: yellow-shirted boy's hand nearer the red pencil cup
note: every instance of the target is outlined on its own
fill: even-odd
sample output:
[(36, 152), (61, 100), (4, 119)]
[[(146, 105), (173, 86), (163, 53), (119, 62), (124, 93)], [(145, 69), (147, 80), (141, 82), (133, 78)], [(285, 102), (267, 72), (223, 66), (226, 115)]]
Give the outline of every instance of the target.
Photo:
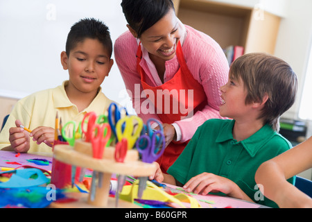
[(51, 127), (39, 126), (31, 131), (31, 137), (33, 141), (37, 141), (37, 144), (44, 144), (52, 147), (54, 142), (55, 130)]

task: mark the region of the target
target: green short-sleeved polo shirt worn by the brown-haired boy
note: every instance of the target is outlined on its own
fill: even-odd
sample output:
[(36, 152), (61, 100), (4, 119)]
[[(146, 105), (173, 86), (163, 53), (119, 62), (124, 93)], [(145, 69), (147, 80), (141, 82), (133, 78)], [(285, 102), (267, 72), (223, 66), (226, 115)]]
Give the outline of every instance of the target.
[[(269, 125), (237, 142), (232, 135), (234, 123), (228, 119), (209, 119), (198, 127), (168, 173), (182, 184), (200, 173), (214, 173), (235, 182), (254, 202), (277, 207), (260, 195), (254, 174), (260, 164), (290, 149), (291, 143)], [(294, 178), (288, 181), (294, 183)]]

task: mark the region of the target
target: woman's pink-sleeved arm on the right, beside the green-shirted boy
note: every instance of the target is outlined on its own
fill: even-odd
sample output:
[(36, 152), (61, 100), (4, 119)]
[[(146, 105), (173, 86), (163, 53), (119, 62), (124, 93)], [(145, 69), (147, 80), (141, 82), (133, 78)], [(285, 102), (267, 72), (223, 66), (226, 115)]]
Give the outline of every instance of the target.
[(220, 87), (227, 83), (229, 65), (225, 53), (211, 37), (187, 26), (187, 39), (182, 51), (193, 78), (202, 85), (207, 105), (193, 117), (176, 121), (182, 132), (181, 142), (191, 139), (198, 126), (207, 119), (220, 119)]

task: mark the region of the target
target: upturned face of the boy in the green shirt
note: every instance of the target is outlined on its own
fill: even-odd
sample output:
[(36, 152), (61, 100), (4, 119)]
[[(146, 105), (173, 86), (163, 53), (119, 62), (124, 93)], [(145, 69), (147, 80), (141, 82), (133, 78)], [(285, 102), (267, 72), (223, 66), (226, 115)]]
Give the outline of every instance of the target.
[(220, 115), (232, 119), (240, 119), (248, 117), (252, 105), (245, 104), (247, 90), (244, 87), (243, 80), (233, 79), (229, 76), (226, 85), (220, 87), (222, 103), (220, 105)]

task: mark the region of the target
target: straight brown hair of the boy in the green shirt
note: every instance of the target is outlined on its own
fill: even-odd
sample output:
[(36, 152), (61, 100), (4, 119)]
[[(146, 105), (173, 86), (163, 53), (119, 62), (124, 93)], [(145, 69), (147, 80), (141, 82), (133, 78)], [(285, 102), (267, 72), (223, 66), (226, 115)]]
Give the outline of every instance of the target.
[(291, 108), (297, 94), (297, 76), (290, 65), (266, 53), (250, 53), (232, 63), (229, 76), (243, 80), (246, 104), (261, 102), (268, 95), (259, 119), (265, 119), (278, 132), (279, 117)]

